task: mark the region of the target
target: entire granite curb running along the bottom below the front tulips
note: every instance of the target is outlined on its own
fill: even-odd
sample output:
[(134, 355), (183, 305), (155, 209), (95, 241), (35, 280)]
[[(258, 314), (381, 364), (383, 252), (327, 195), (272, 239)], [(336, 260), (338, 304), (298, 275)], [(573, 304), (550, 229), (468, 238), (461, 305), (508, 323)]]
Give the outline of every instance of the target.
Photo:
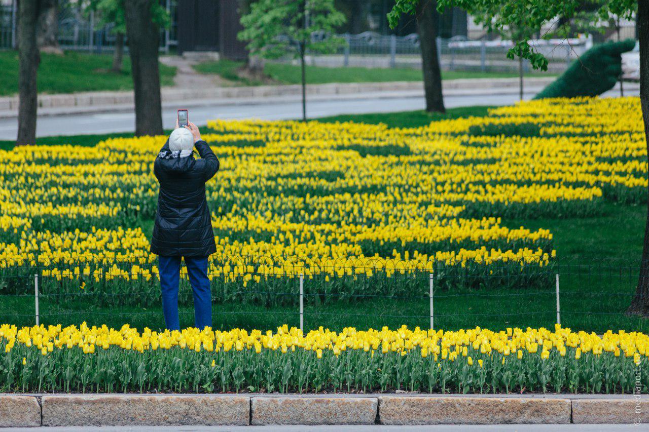
[(644, 398), (649, 395), (0, 394), (0, 427), (641, 424), (649, 422)]

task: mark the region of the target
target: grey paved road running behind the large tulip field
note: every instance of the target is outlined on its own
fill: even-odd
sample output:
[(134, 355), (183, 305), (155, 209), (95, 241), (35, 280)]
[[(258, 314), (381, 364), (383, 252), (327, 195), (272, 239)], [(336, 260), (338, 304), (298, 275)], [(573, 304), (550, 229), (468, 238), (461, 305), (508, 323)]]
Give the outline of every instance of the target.
[[(530, 89), (524, 98), (530, 99), (538, 89)], [(627, 91), (635, 93), (637, 90)], [(617, 90), (605, 93), (607, 97), (618, 96)], [(631, 94), (629, 94), (631, 95)], [(362, 114), (371, 112), (398, 112), (421, 110), (424, 99), (419, 92), (371, 93), (365, 95), (337, 95), (337, 99), (311, 97), (307, 110), (309, 117), (326, 117), (337, 114)], [(447, 108), (472, 105), (509, 105), (519, 100), (518, 94), (492, 95), (447, 95), (444, 98)], [(297, 119), (301, 117), (301, 104), (298, 98), (276, 97), (258, 101), (214, 101), (206, 104), (183, 104), (164, 106), (165, 128), (173, 128), (177, 108), (188, 108), (190, 120), (197, 125), (205, 125), (209, 119)], [(39, 117), (37, 136), (58, 136), (77, 134), (108, 134), (112, 132), (131, 132), (135, 129), (132, 110), (125, 112), (47, 115)], [(18, 122), (16, 119), (0, 119), (0, 140), (16, 139)]]

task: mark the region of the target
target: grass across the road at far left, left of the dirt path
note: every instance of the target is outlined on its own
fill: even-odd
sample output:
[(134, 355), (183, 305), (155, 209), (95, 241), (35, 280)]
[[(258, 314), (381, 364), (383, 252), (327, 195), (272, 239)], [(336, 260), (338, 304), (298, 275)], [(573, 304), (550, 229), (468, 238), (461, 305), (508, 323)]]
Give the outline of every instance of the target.
[[(130, 90), (129, 56), (124, 57), (121, 73), (108, 71), (112, 65), (111, 54), (85, 54), (66, 51), (63, 55), (41, 54), (38, 67), (39, 93), (75, 93), (77, 91)], [(0, 51), (0, 95), (18, 93), (18, 52)], [(160, 83), (173, 85), (176, 68), (160, 64)]]

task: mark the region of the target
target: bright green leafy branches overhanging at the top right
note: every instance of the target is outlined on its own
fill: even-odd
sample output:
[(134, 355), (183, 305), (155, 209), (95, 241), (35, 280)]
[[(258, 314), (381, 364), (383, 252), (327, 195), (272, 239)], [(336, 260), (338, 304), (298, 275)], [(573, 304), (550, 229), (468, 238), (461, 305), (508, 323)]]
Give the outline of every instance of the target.
[[(421, 0), (396, 0), (387, 14), (391, 27), (396, 27), (402, 14), (413, 14)], [(508, 58), (519, 56), (530, 61), (534, 69), (548, 69), (548, 59), (537, 53), (530, 40), (547, 23), (564, 20), (580, 14), (582, 0), (437, 0), (437, 9), (459, 7), (471, 14), (477, 24), (484, 25), (489, 32), (511, 34), (514, 46), (508, 51)], [(595, 6), (595, 14), (607, 21), (610, 14), (630, 18), (637, 9), (636, 0), (603, 0)], [(512, 31), (511, 29), (515, 29)]]

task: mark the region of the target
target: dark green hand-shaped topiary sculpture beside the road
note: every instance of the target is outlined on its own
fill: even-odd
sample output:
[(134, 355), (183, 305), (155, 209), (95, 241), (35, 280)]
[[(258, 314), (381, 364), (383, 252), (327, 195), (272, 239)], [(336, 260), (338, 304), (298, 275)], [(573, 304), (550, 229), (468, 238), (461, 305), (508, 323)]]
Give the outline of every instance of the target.
[(534, 99), (545, 97), (597, 96), (611, 90), (622, 73), (622, 53), (630, 51), (635, 41), (607, 42), (596, 45), (574, 60), (570, 67)]

